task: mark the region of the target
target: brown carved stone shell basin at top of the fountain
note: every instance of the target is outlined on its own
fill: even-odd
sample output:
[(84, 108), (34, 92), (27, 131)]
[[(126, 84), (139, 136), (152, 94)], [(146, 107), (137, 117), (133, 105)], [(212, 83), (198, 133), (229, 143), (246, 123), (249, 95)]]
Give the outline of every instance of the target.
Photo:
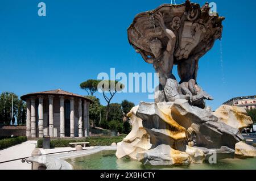
[(186, 1), (181, 5), (163, 4), (155, 10), (142, 12), (135, 16), (127, 30), (129, 43), (147, 56), (153, 56), (149, 47), (153, 39), (162, 41), (163, 48), (166, 48), (168, 37), (154, 18), (154, 14), (161, 12), (166, 27), (177, 37), (175, 64), (192, 55), (201, 57), (212, 48), (210, 46), (216, 39), (221, 38), (222, 20), (225, 19), (218, 14), (210, 16), (207, 5), (200, 8), (199, 4)]

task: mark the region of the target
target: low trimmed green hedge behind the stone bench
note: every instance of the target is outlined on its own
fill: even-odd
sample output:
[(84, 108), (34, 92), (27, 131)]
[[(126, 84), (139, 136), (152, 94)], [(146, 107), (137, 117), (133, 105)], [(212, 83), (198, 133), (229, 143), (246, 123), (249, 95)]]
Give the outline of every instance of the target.
[[(123, 140), (124, 136), (119, 137), (89, 137), (77, 140), (57, 139), (51, 140), (51, 148), (68, 147), (70, 142), (90, 142), (89, 146), (109, 146), (113, 142), (118, 143)], [(38, 140), (38, 148), (43, 148), (43, 139)]]

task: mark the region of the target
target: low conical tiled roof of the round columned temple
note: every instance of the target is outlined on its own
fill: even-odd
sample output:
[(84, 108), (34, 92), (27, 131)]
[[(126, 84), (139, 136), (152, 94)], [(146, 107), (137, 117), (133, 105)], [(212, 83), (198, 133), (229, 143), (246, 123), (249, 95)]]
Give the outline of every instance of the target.
[(56, 90), (50, 90), (50, 91), (43, 91), (43, 92), (32, 92), (30, 94), (26, 94), (20, 97), (20, 99), (25, 100), (30, 97), (30, 96), (38, 96), (38, 95), (63, 95), (63, 96), (73, 96), (81, 99), (88, 100), (90, 103), (92, 103), (92, 100), (86, 98), (85, 96), (79, 95), (79, 94), (74, 94), (72, 92), (64, 91), (61, 89), (56, 89)]

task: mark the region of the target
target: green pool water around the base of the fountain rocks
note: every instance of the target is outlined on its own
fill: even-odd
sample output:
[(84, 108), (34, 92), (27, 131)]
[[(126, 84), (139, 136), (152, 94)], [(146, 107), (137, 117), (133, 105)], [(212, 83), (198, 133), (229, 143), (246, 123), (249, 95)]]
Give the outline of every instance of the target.
[(75, 170), (256, 170), (256, 158), (222, 159), (217, 164), (191, 164), (189, 166), (144, 166), (141, 162), (129, 158), (117, 159), (115, 151), (101, 151), (85, 157), (67, 159)]

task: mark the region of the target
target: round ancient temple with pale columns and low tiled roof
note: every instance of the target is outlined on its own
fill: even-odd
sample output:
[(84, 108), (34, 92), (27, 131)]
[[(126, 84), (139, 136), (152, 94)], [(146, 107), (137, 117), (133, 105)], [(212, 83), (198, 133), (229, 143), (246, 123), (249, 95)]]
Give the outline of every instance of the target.
[(89, 104), (84, 96), (63, 90), (21, 96), (27, 102), (27, 137), (89, 136)]

